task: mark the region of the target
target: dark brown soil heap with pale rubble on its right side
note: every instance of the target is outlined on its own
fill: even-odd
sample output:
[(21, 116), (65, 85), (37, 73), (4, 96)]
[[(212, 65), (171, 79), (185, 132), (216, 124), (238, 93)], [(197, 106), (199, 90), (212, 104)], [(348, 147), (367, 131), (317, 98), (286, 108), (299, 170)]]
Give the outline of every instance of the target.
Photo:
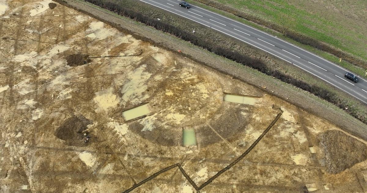
[[(87, 129), (87, 125), (92, 124), (92, 121), (83, 116), (70, 117), (66, 119), (63, 124), (57, 128), (55, 136), (59, 139), (65, 140), (69, 146), (86, 146), (88, 143), (84, 142), (83, 131)], [(89, 135), (87, 133), (87, 135)]]

